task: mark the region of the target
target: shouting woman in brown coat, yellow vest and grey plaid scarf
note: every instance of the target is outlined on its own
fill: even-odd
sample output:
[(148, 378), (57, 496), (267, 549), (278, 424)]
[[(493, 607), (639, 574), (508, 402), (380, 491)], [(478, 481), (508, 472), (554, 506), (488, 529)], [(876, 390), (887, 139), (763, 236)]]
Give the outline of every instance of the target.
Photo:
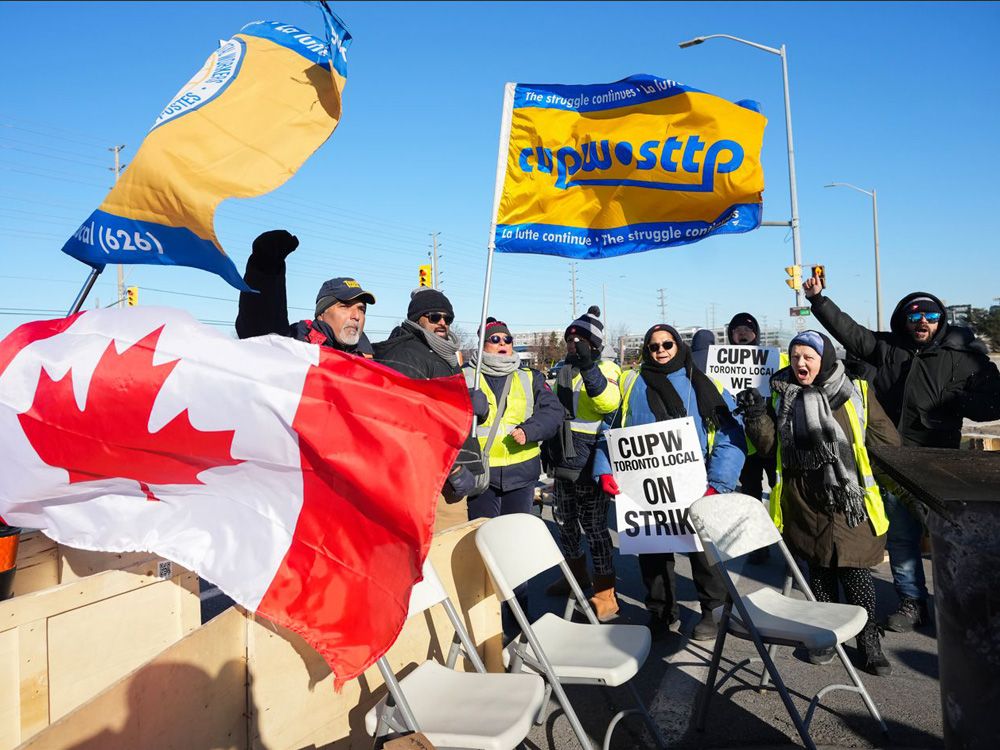
[[(757, 450), (777, 460), (771, 518), (792, 554), (809, 564), (816, 599), (864, 607), (868, 621), (857, 637), (862, 668), (892, 671), (875, 621), (869, 568), (882, 562), (889, 528), (867, 446), (900, 444), (899, 434), (869, 389), (854, 379), (818, 331), (803, 331), (788, 346), (791, 365), (771, 377), (771, 401), (756, 389), (737, 397)], [(814, 664), (833, 649), (810, 652)]]

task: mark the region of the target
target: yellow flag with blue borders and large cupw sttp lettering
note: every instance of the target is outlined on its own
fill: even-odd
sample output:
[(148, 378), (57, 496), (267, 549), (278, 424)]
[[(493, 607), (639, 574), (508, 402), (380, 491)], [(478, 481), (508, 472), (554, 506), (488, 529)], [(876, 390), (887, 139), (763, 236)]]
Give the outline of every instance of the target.
[(756, 229), (766, 123), (655, 76), (507, 84), (496, 251), (607, 258)]

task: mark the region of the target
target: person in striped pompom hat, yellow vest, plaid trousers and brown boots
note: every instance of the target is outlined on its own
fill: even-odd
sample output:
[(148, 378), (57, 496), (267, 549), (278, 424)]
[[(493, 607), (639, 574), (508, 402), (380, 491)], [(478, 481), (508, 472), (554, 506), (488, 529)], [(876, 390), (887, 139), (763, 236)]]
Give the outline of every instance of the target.
[[(614, 362), (601, 359), (604, 324), (600, 315), (601, 309), (593, 305), (566, 328), (566, 364), (559, 371), (555, 388), (565, 414), (559, 434), (545, 441), (542, 448), (548, 473), (555, 479), (553, 515), (559, 527), (559, 547), (580, 586), (588, 588), (591, 581), (580, 537), (582, 526), (594, 564), (590, 603), (604, 621), (618, 613), (614, 548), (608, 529), (611, 500), (594, 481), (592, 467), (598, 433), (611, 423), (621, 403), (621, 370)], [(566, 596), (569, 585), (560, 576), (545, 593)]]

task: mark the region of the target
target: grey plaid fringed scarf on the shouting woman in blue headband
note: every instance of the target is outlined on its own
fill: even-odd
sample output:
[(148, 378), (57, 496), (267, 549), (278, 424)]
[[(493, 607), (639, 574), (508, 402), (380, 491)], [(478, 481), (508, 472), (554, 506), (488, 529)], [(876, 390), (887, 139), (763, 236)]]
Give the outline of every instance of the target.
[(833, 411), (854, 391), (843, 362), (837, 362), (830, 377), (818, 387), (799, 385), (790, 368), (779, 370), (771, 378), (771, 389), (780, 397), (777, 416), (782, 463), (806, 474), (817, 487), (827, 513), (843, 513), (850, 528), (867, 521), (854, 449), (833, 418)]

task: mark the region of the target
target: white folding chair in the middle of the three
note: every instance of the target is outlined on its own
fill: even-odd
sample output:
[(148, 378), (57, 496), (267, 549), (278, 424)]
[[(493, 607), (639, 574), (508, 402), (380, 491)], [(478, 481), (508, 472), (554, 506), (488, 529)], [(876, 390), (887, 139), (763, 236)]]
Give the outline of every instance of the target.
[[(641, 715), (657, 746), (663, 747), (656, 724), (642, 704), (635, 686), (629, 682), (649, 654), (649, 629), (641, 625), (602, 625), (598, 621), (548, 527), (537, 516), (514, 513), (490, 519), (476, 532), (476, 547), (500, 598), (510, 606), (521, 627), (521, 636), (508, 647), (511, 652), (510, 671), (518, 673), (527, 667), (545, 677), (546, 700), (537, 723), (544, 722), (544, 706), (548, 705), (549, 694), (554, 693), (581, 747), (590, 750), (590, 737), (566, 697), (563, 684), (616, 687), (627, 683), (638, 708), (614, 715), (604, 734), (604, 750), (610, 745), (615, 726), (629, 714)], [(514, 595), (514, 588), (556, 565), (566, 576), (577, 605), (586, 613), (589, 623), (570, 621), (572, 598), (565, 617), (550, 612), (533, 623), (528, 622), (527, 614)]]

